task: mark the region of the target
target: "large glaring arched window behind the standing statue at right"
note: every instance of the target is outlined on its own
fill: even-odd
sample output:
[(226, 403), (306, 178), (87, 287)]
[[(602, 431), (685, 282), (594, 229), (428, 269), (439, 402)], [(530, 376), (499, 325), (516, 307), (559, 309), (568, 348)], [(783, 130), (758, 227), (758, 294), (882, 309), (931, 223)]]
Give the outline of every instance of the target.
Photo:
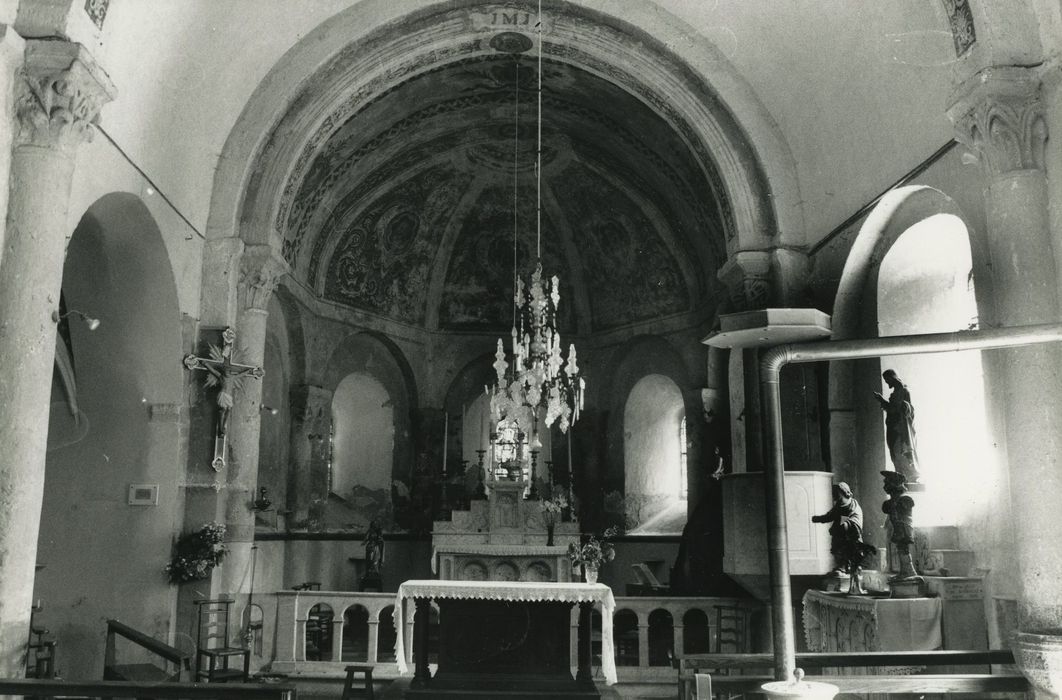
[[(905, 336), (978, 327), (966, 226), (935, 215), (905, 231), (878, 273), (878, 335)], [(979, 352), (881, 358), (895, 371), (914, 407), (918, 467), (927, 491), (915, 525), (954, 525), (983, 500), (994, 472), (987, 440)], [(883, 393), (889, 395), (884, 387)], [(892, 468), (886, 450), (886, 464)]]

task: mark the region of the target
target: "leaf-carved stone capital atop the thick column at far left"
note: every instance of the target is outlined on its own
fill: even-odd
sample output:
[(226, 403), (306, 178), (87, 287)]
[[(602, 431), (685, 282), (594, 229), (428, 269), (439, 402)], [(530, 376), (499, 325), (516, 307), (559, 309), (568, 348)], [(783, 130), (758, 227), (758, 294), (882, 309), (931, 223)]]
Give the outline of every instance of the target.
[(15, 146), (75, 148), (92, 138), (115, 86), (80, 44), (31, 39), (19, 70)]

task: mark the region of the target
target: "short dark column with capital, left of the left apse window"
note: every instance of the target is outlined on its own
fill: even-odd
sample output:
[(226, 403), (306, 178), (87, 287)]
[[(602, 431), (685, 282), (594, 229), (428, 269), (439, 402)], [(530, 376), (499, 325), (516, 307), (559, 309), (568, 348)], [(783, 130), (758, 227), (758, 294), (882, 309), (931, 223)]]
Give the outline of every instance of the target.
[(291, 391), (291, 523), (305, 522), (314, 498), (328, 496), (327, 441), (332, 392), (304, 385)]

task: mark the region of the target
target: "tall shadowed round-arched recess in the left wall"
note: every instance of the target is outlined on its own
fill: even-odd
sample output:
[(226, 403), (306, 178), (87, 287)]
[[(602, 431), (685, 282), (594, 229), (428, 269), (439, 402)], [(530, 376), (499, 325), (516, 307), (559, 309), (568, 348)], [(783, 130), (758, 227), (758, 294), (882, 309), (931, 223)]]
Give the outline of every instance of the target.
[[(65, 675), (95, 678), (100, 620), (124, 610), (129, 624), (166, 638), (176, 594), (160, 552), (181, 520), (187, 375), (173, 268), (138, 197), (112, 192), (85, 210), (67, 249), (62, 298), (66, 311), (100, 325), (90, 330), (71, 314), (57, 331), (72, 358), (79, 413), (53, 392), (37, 546), (47, 566), (33, 597), (64, 644), (86, 650), (69, 658)], [(131, 505), (131, 484), (157, 484), (157, 505)], [(85, 598), (86, 590), (98, 595)]]

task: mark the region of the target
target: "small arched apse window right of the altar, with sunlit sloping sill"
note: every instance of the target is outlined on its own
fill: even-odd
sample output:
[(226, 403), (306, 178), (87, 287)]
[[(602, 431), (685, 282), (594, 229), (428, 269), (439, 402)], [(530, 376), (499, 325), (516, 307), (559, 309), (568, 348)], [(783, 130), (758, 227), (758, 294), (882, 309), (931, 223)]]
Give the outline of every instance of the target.
[(631, 389), (623, 411), (624, 500), (634, 532), (681, 532), (686, 518), (685, 417), (679, 386), (660, 374)]

